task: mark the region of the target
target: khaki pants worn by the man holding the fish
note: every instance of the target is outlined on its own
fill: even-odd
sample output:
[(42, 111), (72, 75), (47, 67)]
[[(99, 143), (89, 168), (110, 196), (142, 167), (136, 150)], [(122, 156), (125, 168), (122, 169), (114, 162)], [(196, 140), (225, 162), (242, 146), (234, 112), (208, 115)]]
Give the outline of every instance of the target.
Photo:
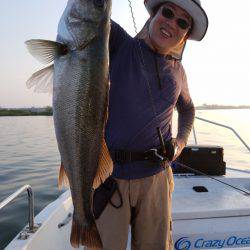
[[(147, 178), (116, 180), (123, 206), (117, 209), (108, 204), (96, 220), (103, 250), (126, 250), (129, 225), (132, 250), (172, 250), (171, 167)], [(120, 203), (117, 192), (112, 202)]]

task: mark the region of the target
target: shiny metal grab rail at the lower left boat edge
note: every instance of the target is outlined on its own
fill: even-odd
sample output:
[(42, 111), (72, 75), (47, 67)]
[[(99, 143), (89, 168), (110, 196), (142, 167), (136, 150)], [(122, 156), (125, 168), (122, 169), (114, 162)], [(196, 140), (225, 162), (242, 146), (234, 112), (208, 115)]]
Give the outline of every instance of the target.
[(30, 185), (25, 185), (14, 192), (12, 195), (4, 199), (0, 203), (0, 210), (8, 205), (12, 200), (14, 200), (18, 195), (20, 195), (23, 191), (27, 191), (28, 193), (28, 202), (29, 202), (29, 232), (34, 232), (34, 196), (33, 191)]

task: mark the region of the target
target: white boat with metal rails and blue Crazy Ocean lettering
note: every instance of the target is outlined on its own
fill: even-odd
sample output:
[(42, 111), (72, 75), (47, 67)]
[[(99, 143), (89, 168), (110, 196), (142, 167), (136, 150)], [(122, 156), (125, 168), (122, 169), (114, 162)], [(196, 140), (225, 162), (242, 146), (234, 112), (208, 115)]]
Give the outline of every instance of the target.
[[(250, 151), (233, 128), (196, 118), (231, 129)], [(174, 249), (250, 249), (250, 170), (227, 166), (226, 173), (218, 176), (175, 173), (174, 182)], [(32, 190), (28, 185), (8, 197), (4, 203), (0, 203), (0, 209), (24, 190), (28, 190), (29, 194), (29, 225), (5, 249), (74, 249), (70, 245), (73, 213), (70, 191), (65, 191), (35, 218)], [(131, 249), (130, 243), (129, 231), (127, 250)]]

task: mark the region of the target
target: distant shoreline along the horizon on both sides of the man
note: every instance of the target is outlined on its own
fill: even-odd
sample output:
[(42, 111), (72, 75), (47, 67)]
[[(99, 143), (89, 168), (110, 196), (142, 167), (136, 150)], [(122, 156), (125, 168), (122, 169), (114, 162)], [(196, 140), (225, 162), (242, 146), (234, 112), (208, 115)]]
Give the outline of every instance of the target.
[[(195, 107), (196, 110), (229, 110), (229, 109), (250, 109), (250, 106), (222, 106), (203, 105)], [(45, 108), (0, 108), (1, 116), (52, 116), (52, 107)]]

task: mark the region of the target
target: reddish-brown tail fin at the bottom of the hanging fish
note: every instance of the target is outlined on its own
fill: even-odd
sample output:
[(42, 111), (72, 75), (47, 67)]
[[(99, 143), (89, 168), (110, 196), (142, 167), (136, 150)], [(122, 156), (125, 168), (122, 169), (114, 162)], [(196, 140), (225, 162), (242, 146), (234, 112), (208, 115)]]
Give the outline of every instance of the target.
[(92, 249), (102, 249), (100, 234), (94, 223), (91, 228), (80, 225), (73, 217), (70, 243), (73, 247), (78, 248), (80, 245)]

